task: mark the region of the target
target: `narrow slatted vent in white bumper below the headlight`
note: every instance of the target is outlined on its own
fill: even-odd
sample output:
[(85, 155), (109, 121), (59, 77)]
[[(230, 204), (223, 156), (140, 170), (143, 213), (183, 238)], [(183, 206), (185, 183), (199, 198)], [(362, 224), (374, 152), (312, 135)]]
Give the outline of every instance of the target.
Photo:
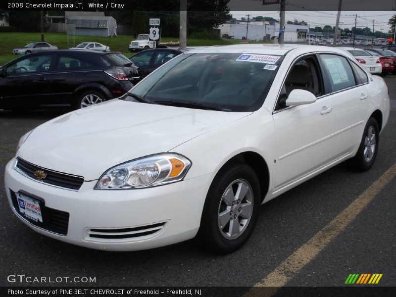
[(123, 229), (91, 229), (88, 231), (90, 238), (124, 239), (148, 236), (161, 231), (165, 222), (146, 226)]

